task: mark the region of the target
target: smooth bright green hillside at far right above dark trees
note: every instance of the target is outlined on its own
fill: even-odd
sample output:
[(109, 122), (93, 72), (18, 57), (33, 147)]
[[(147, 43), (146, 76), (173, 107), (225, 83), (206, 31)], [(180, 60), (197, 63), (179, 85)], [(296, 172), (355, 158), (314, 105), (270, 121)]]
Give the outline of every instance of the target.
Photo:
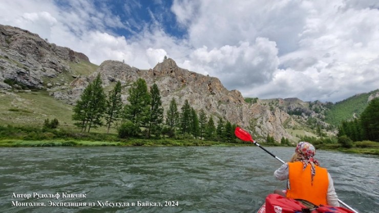
[(354, 95), (343, 101), (329, 105), (329, 110), (325, 113), (325, 121), (338, 126), (344, 120), (359, 117), (368, 105), (368, 97), (376, 92), (379, 92), (379, 90)]

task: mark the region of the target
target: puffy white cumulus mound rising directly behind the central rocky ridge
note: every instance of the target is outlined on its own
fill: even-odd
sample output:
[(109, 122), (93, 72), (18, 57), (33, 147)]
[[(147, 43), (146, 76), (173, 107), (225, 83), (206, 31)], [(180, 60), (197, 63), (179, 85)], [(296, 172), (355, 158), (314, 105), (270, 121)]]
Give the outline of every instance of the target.
[(259, 37), (253, 44), (245, 41), (212, 50), (203, 46), (194, 50), (183, 66), (217, 76), (227, 88), (241, 90), (270, 81), (279, 64), (277, 54), (274, 41)]

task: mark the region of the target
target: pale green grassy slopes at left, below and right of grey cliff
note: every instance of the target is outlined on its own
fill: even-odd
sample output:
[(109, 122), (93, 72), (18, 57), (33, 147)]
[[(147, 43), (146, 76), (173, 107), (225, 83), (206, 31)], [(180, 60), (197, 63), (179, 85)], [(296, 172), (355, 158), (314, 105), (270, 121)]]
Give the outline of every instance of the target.
[[(44, 83), (67, 85), (77, 75), (90, 75), (97, 65), (87, 61), (70, 63), (71, 72), (63, 72), (55, 78), (44, 77)], [(46, 86), (46, 85), (45, 85)], [(72, 105), (66, 104), (49, 95), (48, 91), (0, 91), (0, 123), (11, 125), (42, 126), (45, 119), (57, 118), (59, 127), (74, 128), (71, 120)]]

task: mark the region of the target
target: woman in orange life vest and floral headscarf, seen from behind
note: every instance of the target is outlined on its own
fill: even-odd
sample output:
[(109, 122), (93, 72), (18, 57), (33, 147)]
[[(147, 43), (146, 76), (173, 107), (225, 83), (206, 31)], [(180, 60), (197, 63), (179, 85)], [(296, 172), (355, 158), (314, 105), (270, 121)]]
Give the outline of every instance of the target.
[(312, 144), (299, 142), (290, 161), (274, 172), (278, 180), (287, 180), (287, 190), (276, 189), (274, 193), (286, 198), (307, 200), (315, 205), (340, 206), (329, 172), (320, 167), (314, 155)]

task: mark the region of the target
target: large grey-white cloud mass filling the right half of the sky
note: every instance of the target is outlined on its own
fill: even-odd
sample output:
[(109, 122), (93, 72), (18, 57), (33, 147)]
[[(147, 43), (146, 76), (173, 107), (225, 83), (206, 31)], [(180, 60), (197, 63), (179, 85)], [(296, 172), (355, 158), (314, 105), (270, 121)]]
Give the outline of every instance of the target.
[[(188, 39), (196, 47), (183, 66), (203, 68), (228, 89), (260, 98), (336, 101), (378, 87), (372, 80), (379, 80), (379, 74), (373, 73), (379, 57), (376, 1), (241, 1), (233, 5), (202, 1), (194, 5), (189, 8), (197, 8), (195, 14), (185, 12), (186, 1), (173, 6), (177, 13), (184, 11), (177, 14), (178, 21), (188, 27)], [(258, 38), (276, 46), (259, 50), (240, 45), (258, 44)], [(233, 51), (223, 51), (225, 47)], [(260, 65), (247, 63), (241, 54)], [(228, 67), (230, 61), (233, 65)]]

